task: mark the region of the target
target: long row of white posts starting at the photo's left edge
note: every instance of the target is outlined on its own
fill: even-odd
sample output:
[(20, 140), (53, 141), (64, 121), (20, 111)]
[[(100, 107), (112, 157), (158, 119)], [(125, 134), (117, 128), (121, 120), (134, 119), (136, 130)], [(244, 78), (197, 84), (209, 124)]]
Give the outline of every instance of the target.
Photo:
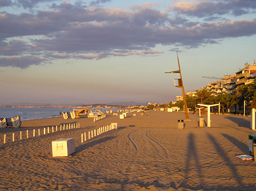
[[(75, 129), (75, 128), (80, 128), (80, 123), (63, 124), (63, 128), (62, 128), (62, 125), (60, 125), (59, 129), (60, 130), (68, 130), (68, 129)], [(58, 131), (58, 126), (57, 125), (56, 125), (56, 127), (52, 126), (51, 130), (50, 130), (50, 127), (47, 127), (47, 129), (43, 128), (43, 134), (42, 135), (45, 135), (46, 133), (49, 134), (49, 133), (57, 132), (57, 131)], [(28, 139), (29, 138), (28, 130), (26, 130), (26, 133), (27, 133), (27, 139)], [(37, 136), (40, 136), (40, 135), (41, 135), (41, 130), (38, 129)], [(36, 129), (33, 129), (33, 137), (36, 137)], [(19, 132), (19, 139), (22, 140), (22, 131)], [(12, 133), (12, 141), (13, 142), (15, 141), (15, 134), (14, 133)], [(3, 135), (3, 143), (6, 143), (6, 134)]]

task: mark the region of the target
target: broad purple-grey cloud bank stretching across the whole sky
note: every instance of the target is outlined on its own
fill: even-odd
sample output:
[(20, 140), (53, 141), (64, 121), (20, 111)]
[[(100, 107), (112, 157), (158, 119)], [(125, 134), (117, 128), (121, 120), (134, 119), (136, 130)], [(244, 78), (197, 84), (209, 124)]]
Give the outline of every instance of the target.
[[(26, 2), (30, 0), (19, 1)], [(243, 2), (183, 1), (169, 7), (171, 12), (164, 12), (154, 3), (132, 6), (127, 11), (63, 1), (36, 13), (0, 12), (0, 25), (4, 26), (0, 28), (0, 66), (27, 68), (53, 59), (157, 56), (161, 53), (154, 50), (158, 44), (175, 50), (178, 46), (197, 48), (221, 43), (224, 38), (253, 36), (255, 19), (231, 21), (223, 17), (239, 9), (252, 11), (254, 1)]]

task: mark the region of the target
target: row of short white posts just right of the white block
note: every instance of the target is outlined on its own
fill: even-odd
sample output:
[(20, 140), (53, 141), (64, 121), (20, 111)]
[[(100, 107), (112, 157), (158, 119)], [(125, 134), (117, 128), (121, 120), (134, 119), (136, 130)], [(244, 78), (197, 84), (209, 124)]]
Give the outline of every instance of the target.
[[(81, 134), (81, 143), (86, 142), (86, 140), (96, 137), (97, 135), (101, 135), (102, 133), (109, 132), (110, 130), (117, 129), (117, 123), (111, 123), (111, 125), (107, 125), (105, 127), (100, 127), (98, 129), (91, 130), (87, 133), (86, 132)], [(97, 130), (97, 133), (96, 133)]]

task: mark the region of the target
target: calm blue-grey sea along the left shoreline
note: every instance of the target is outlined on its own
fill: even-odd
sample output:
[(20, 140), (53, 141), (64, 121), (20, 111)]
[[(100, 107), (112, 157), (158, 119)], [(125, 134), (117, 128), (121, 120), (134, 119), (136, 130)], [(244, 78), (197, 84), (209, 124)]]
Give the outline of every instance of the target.
[[(60, 117), (60, 112), (71, 112), (73, 109), (68, 108), (19, 108), (19, 107), (0, 107), (0, 118), (16, 117), (19, 115), (21, 120), (46, 119)], [(96, 109), (91, 109), (95, 112)], [(109, 109), (99, 109), (106, 113)], [(116, 112), (117, 109), (112, 109)]]

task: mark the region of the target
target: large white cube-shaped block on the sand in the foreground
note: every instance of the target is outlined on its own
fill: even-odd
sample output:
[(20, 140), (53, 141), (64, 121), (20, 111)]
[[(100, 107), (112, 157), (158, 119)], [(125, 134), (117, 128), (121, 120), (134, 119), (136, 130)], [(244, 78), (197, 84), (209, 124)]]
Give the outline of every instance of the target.
[(52, 141), (52, 157), (67, 157), (74, 152), (74, 138), (60, 138)]

